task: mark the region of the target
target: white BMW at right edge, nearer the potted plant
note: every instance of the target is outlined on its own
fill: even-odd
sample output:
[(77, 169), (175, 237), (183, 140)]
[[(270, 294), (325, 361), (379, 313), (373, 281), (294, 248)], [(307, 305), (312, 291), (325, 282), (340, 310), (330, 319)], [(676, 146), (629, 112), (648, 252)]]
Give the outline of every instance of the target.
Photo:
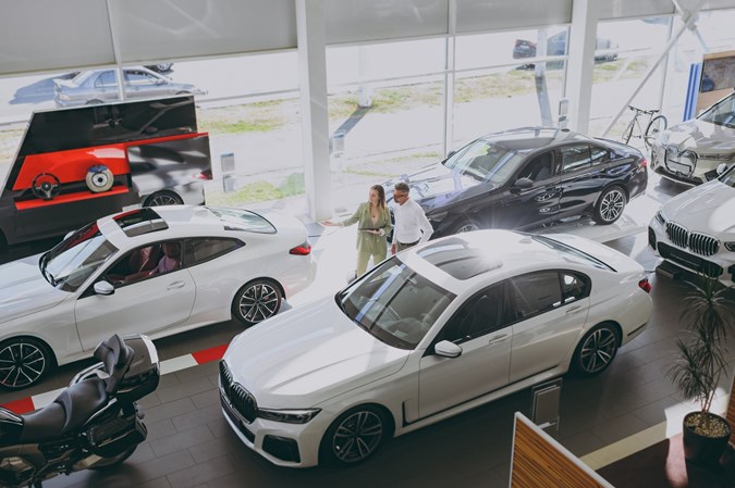
[(666, 261), (734, 285), (735, 165), (663, 205), (649, 224), (648, 245)]

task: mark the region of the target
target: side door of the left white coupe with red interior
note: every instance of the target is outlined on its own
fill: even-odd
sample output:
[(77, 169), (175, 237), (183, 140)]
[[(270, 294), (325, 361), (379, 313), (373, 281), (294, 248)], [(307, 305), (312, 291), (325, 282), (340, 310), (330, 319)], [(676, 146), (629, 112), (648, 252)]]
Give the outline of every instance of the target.
[[(179, 241), (166, 242), (181, 245)], [(160, 247), (162, 243), (147, 246)], [(124, 253), (96, 280), (112, 283), (112, 295), (97, 295), (90, 285), (77, 299), (76, 327), (85, 350), (94, 349), (111, 333), (167, 335), (188, 320), (196, 295), (188, 271), (181, 264), (172, 271), (154, 274), (146, 268), (133, 270), (131, 263), (137, 252), (136, 248)]]

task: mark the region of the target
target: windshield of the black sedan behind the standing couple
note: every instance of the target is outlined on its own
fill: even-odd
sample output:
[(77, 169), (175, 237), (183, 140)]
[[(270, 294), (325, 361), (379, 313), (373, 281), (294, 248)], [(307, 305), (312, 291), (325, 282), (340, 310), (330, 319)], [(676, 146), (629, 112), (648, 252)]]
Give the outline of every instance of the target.
[(523, 155), (516, 151), (478, 139), (460, 149), (444, 161), (444, 165), (479, 182), (502, 185), (515, 173), (522, 161)]

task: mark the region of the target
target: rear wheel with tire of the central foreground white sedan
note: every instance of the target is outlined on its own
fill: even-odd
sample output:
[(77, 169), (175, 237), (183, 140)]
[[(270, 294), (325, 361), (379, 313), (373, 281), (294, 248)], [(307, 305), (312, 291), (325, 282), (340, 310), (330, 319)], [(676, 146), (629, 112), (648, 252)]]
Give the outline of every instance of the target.
[(608, 368), (620, 346), (613, 324), (599, 324), (581, 338), (572, 358), (572, 370), (579, 376), (595, 376)]

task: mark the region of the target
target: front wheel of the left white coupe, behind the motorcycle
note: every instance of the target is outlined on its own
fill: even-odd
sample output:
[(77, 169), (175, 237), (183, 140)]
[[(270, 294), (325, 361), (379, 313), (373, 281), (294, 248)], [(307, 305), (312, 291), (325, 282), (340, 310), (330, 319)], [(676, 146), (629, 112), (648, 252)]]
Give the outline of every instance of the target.
[(49, 347), (33, 337), (14, 337), (0, 343), (0, 387), (20, 390), (40, 381), (56, 367)]

